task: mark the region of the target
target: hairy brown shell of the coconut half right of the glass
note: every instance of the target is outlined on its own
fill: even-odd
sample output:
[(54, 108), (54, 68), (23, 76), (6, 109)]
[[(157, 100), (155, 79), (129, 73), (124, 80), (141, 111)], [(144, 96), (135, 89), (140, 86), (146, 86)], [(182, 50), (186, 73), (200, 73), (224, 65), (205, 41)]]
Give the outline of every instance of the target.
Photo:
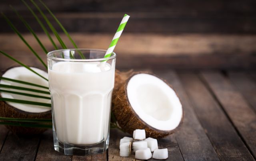
[[(134, 112), (132, 106), (130, 105), (130, 102), (128, 100), (128, 95), (127, 95), (127, 85), (130, 79), (134, 75), (140, 74), (140, 73), (141, 72), (132, 73), (132, 75), (130, 75), (130, 77), (126, 81), (124, 81), (122, 84), (119, 84), (120, 86), (119, 89), (114, 90), (114, 97), (112, 99), (112, 105), (113, 105), (112, 112), (118, 122), (118, 125), (122, 128), (122, 130), (124, 130), (124, 132), (128, 132), (131, 135), (133, 134), (133, 131), (136, 129), (145, 129), (146, 136), (153, 137), (153, 138), (161, 138), (174, 133), (178, 127), (171, 131), (162, 131), (146, 124)], [(147, 74), (151, 74), (151, 73), (147, 73)], [(154, 74), (151, 74), (151, 75), (154, 75)], [(166, 82), (166, 84), (168, 83)], [(170, 84), (168, 85), (170, 86)], [(182, 120), (183, 120), (183, 116), (182, 116)], [(180, 124), (182, 120), (180, 121)]]

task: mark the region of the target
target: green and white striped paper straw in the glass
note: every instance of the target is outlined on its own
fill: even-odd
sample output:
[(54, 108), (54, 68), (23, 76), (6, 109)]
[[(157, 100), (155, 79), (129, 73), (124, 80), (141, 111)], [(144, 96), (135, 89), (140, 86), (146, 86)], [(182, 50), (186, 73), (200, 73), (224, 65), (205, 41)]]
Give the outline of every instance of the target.
[(127, 14), (124, 14), (124, 17), (123, 17), (118, 29), (116, 30), (116, 34), (114, 35), (104, 58), (107, 58), (107, 57), (111, 56), (112, 52), (114, 51), (114, 48), (116, 47), (116, 43), (117, 43), (120, 35), (124, 31), (124, 27), (126, 26), (126, 23), (127, 23), (129, 18), (130, 18), (130, 16), (128, 16)]

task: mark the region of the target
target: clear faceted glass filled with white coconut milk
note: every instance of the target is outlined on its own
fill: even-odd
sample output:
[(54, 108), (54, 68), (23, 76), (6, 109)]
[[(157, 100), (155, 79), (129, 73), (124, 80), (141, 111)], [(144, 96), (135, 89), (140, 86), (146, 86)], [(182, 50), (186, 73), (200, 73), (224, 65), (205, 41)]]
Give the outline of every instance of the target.
[(116, 54), (62, 49), (47, 54), (54, 149), (91, 155), (108, 149)]

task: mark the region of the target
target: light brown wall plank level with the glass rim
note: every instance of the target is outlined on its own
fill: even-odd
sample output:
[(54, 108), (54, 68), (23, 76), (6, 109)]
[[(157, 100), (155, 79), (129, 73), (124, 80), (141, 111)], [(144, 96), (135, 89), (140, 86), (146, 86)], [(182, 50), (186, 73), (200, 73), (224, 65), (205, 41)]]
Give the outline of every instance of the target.
[[(48, 51), (54, 50), (48, 37), (44, 33), (37, 34)], [(70, 33), (81, 48), (107, 49), (113, 33)], [(24, 38), (39, 53), (40, 45), (30, 33), (24, 33)], [(58, 42), (54, 35), (54, 41)], [(72, 48), (72, 44), (64, 35), (60, 37), (65, 44)], [(122, 34), (115, 52), (120, 55), (200, 55), (200, 54), (250, 54), (256, 52), (256, 35), (220, 35), (220, 34)], [(15, 44), (15, 45), (14, 45)], [(58, 44), (58, 43), (57, 43)], [(28, 47), (15, 33), (0, 34), (0, 49), (12, 55), (32, 55)], [(238, 52), (239, 51), (239, 52)], [(21, 52), (21, 53), (20, 53)]]

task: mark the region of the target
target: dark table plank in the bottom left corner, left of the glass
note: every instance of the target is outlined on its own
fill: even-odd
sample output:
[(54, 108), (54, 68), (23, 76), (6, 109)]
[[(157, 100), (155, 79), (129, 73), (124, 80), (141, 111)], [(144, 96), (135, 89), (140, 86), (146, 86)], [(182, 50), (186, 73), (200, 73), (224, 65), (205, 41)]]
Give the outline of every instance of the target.
[(36, 157), (39, 141), (39, 135), (17, 136), (10, 132), (2, 147), (0, 160), (33, 161)]

